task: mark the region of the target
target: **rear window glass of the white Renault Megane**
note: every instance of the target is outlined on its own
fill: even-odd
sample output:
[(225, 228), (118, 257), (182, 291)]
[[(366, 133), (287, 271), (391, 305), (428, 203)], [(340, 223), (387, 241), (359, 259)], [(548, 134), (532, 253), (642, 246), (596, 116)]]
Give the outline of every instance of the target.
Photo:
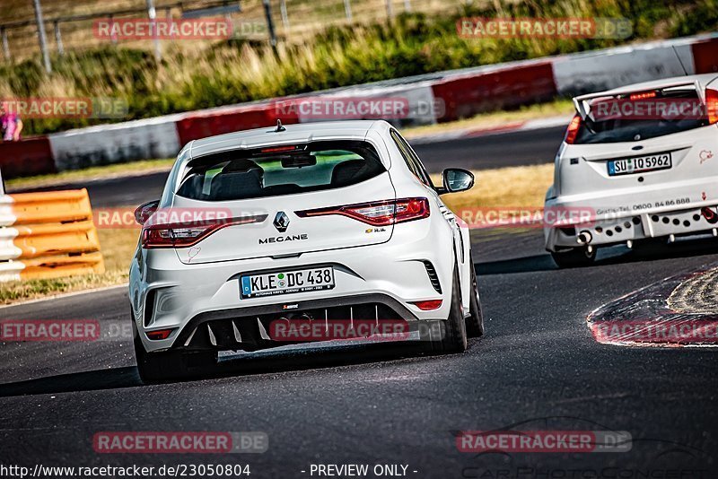
[(372, 145), (357, 141), (222, 152), (197, 158), (189, 166), (177, 194), (203, 201), (347, 187), (386, 171)]

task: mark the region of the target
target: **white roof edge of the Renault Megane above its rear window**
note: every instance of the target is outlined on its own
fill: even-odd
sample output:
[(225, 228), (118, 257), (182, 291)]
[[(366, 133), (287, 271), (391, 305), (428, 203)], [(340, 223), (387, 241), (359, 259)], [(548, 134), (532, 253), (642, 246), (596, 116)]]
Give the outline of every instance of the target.
[(276, 126), (208, 136), (188, 145), (190, 158), (227, 150), (260, 148), (275, 144), (302, 144), (318, 140), (363, 140), (372, 129), (388, 130), (391, 126), (383, 120), (326, 121)]

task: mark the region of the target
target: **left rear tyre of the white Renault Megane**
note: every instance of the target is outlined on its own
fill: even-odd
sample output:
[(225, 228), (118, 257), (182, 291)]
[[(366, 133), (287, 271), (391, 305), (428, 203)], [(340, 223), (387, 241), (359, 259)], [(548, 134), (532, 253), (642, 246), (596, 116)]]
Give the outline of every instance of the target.
[(217, 353), (214, 351), (197, 353), (180, 353), (177, 351), (162, 351), (161, 353), (147, 353), (137, 332), (135, 320), (132, 321), (135, 333), (135, 358), (137, 372), (144, 384), (168, 381), (172, 379), (187, 379), (199, 374), (206, 368), (217, 363)]

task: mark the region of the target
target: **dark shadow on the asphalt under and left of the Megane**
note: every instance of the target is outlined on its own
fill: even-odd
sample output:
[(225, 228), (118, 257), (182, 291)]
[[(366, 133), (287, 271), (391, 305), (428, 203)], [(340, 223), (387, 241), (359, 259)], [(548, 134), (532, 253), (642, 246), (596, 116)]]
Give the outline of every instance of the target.
[[(468, 347), (476, 347), (480, 340), (469, 339)], [(258, 374), (292, 372), (361, 365), (372, 362), (414, 359), (441, 361), (451, 356), (422, 355), (416, 344), (357, 344), (350, 346), (312, 346), (290, 351), (265, 350), (258, 353), (225, 358), (208, 370), (197, 370), (187, 380), (245, 377)], [(184, 381), (168, 381), (164, 384)], [(60, 374), (39, 379), (0, 384), (0, 397), (34, 396), (42, 394), (94, 391), (144, 386), (135, 366), (109, 370), (89, 370)]]

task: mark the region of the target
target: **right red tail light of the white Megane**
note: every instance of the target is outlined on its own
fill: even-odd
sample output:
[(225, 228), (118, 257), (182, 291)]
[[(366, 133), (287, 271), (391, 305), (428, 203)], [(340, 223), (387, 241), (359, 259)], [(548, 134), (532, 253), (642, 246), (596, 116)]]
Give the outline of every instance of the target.
[(357, 205), (332, 206), (294, 213), (300, 218), (339, 214), (372, 226), (388, 226), (398, 222), (411, 222), (428, 218), (430, 212), (429, 200), (426, 198), (402, 198)]

